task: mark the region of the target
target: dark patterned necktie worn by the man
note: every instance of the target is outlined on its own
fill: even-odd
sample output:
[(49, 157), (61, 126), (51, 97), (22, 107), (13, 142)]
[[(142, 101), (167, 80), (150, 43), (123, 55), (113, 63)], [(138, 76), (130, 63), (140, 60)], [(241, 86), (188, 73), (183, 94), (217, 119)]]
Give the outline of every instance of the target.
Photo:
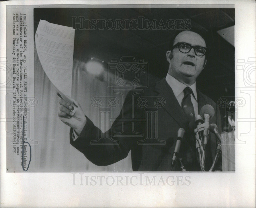
[(195, 121), (195, 111), (194, 111), (194, 107), (191, 102), (191, 96), (190, 96), (191, 93), (194, 96), (194, 93), (190, 87), (186, 87), (183, 90), (183, 92), (184, 92), (184, 98), (182, 100), (181, 107), (182, 107), (185, 115), (187, 116), (188, 120)]

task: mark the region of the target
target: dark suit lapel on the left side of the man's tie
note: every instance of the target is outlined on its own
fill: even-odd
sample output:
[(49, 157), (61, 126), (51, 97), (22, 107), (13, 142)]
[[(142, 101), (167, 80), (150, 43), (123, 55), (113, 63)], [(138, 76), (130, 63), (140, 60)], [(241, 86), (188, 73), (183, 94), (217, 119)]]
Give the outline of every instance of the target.
[(183, 127), (187, 121), (187, 117), (180, 107), (172, 88), (168, 85), (165, 78), (156, 84), (155, 91), (159, 93), (158, 96), (165, 98), (164, 109), (175, 119), (175, 121)]

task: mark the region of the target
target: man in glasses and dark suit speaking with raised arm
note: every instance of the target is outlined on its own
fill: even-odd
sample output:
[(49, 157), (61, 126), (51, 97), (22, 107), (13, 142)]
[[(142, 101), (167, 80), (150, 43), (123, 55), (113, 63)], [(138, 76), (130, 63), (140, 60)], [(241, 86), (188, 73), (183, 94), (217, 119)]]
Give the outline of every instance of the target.
[[(206, 42), (199, 33), (185, 30), (176, 34), (166, 53), (169, 62), (166, 78), (141, 93), (129, 92), (120, 115), (104, 134), (84, 116), (81, 107), (72, 113), (72, 105), (60, 100), (58, 115), (71, 127), (71, 145), (96, 165), (115, 163), (131, 150), (134, 171), (180, 171), (179, 162), (173, 168), (171, 163), (177, 131), (184, 128), (179, 157), (186, 170), (200, 171), (194, 132), (189, 129), (189, 122), (195, 120), (202, 106), (210, 104), (215, 110), (210, 123), (221, 127), (218, 106), (196, 88), (196, 78), (207, 62), (206, 55)], [(212, 165), (216, 146), (216, 138), (210, 133), (206, 170)]]

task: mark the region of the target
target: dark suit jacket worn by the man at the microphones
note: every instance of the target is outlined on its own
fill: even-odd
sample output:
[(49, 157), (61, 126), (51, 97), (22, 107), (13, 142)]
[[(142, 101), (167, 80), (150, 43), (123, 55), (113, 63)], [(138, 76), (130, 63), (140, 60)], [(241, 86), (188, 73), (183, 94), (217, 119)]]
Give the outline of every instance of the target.
[[(142, 91), (127, 94), (120, 115), (106, 133), (95, 127), (89, 118), (75, 141), (71, 129), (71, 145), (99, 166), (113, 164), (127, 157), (131, 150), (133, 171), (170, 171), (177, 131), (182, 127), (186, 132), (180, 148), (184, 166), (187, 171), (200, 171), (194, 132), (189, 130), (189, 122), (166, 80), (162, 79)], [(210, 123), (215, 123), (220, 129), (221, 116), (216, 103), (199, 90), (197, 98), (198, 112), (205, 104), (214, 107), (215, 115)], [(210, 133), (206, 170), (212, 165), (216, 147), (215, 135)], [(217, 167), (221, 169), (221, 163)], [(180, 171), (178, 161), (172, 170)]]

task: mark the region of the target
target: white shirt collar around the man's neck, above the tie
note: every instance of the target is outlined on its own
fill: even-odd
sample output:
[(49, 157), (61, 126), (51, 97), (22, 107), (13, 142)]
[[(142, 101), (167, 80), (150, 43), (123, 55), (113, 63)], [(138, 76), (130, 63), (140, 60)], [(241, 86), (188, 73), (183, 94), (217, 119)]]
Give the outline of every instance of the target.
[[(167, 73), (165, 79), (166, 79), (166, 82), (169, 84), (169, 86), (172, 88), (175, 97), (177, 97), (178, 95), (183, 93), (183, 90), (187, 87), (185, 84), (183, 84), (180, 81), (176, 80), (173, 76), (171, 76), (168, 73)], [(195, 95), (195, 98), (197, 100), (196, 82), (194, 84), (190, 85), (189, 87), (192, 89), (192, 91), (193, 91), (193, 93)]]

